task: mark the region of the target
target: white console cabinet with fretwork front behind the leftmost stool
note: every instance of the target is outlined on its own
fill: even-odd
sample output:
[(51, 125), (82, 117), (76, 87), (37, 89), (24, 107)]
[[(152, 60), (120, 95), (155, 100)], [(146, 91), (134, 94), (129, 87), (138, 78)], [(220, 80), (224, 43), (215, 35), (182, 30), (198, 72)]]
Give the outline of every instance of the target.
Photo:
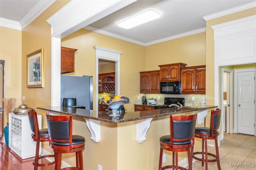
[[(37, 115), (39, 129), (42, 128), (42, 115)], [(36, 142), (31, 137), (28, 115), (9, 113), (9, 147), (20, 158), (34, 157)], [(40, 143), (39, 154), (42, 152)]]

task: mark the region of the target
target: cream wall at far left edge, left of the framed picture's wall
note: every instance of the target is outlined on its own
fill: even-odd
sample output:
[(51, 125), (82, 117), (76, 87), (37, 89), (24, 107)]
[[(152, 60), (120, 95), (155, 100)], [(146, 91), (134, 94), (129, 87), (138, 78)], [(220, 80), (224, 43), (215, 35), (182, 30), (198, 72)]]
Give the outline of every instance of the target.
[[(22, 33), (16, 29), (0, 27), (0, 59), (5, 61), (4, 98), (16, 98), (21, 104), (21, 47)], [(4, 125), (6, 125), (6, 116)]]

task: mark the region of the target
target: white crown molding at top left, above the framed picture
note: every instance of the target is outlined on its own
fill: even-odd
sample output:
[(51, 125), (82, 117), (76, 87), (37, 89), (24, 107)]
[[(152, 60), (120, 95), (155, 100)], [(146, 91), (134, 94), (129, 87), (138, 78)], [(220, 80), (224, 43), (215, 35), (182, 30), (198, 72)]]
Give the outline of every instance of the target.
[(32, 8), (28, 14), (20, 21), (20, 25), (25, 28), (28, 24), (34, 21), (42, 12), (44, 12), (49, 6), (52, 5), (56, 0), (40, 0), (34, 8)]

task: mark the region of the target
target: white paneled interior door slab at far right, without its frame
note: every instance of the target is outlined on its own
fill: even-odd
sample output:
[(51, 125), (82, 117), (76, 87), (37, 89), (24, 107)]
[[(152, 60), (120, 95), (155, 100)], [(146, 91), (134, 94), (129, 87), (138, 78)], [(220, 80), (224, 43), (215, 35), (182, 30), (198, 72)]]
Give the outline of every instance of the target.
[(255, 128), (255, 72), (238, 72), (238, 133), (254, 135)]

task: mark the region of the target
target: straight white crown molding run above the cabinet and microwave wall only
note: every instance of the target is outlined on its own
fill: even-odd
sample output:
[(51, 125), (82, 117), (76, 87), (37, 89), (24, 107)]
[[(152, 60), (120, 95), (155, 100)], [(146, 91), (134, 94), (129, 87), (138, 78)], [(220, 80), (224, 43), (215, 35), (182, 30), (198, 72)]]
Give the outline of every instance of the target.
[(162, 39), (158, 39), (158, 40), (155, 40), (155, 41), (150, 41), (148, 43), (145, 43), (144, 46), (148, 46), (148, 45), (153, 45), (153, 44), (157, 44), (157, 43), (162, 43), (164, 41), (169, 41), (169, 40), (172, 40), (172, 39), (177, 39), (177, 38), (181, 38), (181, 37), (186, 37), (188, 35), (193, 35), (193, 34), (197, 34), (197, 33), (202, 33), (202, 32), (205, 32), (206, 31), (206, 28), (200, 28), (200, 29), (195, 29), (193, 31), (188, 31), (188, 32), (185, 32), (185, 33), (181, 33), (181, 34), (177, 34), (177, 35), (173, 35), (173, 36), (170, 36), (170, 37), (166, 37), (166, 38), (162, 38)]

